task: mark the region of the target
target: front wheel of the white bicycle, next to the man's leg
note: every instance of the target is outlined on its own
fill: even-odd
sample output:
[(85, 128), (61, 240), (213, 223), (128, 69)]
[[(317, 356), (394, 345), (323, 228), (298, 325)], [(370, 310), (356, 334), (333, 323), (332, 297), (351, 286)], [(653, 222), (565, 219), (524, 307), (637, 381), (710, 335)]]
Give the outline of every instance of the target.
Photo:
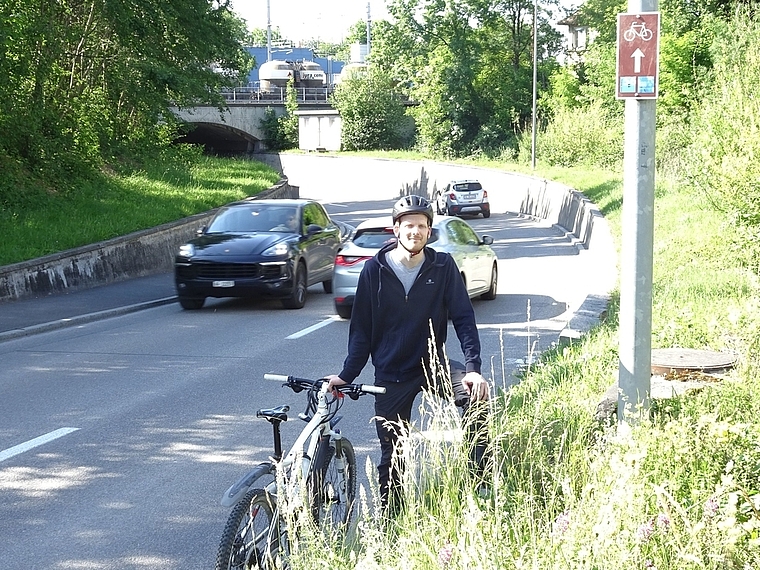
[[(338, 462), (345, 468), (340, 473)], [(347, 439), (323, 442), (319, 446), (309, 477), (309, 504), (315, 522), (324, 530), (341, 532), (351, 521), (356, 503), (356, 454)], [(340, 498), (344, 488), (345, 500)]]

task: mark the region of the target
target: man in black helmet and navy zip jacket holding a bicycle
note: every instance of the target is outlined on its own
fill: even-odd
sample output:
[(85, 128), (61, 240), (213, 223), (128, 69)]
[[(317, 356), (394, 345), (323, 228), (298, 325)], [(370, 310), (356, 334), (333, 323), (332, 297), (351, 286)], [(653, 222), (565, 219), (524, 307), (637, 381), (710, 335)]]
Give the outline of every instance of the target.
[[(453, 379), (455, 403), (488, 399), (488, 383), (480, 374), (480, 338), (475, 313), (454, 259), (426, 248), (433, 223), (433, 207), (421, 196), (404, 196), (393, 207), (396, 243), (383, 247), (368, 260), (359, 277), (343, 370), (328, 377), (330, 387), (352, 382), (372, 357), (375, 384), (386, 393), (375, 400), (378, 464), (384, 506), (398, 507), (400, 472), (393, 465), (398, 440), (393, 423), (411, 419), (414, 399), (431, 376), (428, 339), (431, 327), (443, 362), (448, 320), (451, 319), (464, 354), (464, 376)], [(482, 469), (482, 434), (474, 460)]]

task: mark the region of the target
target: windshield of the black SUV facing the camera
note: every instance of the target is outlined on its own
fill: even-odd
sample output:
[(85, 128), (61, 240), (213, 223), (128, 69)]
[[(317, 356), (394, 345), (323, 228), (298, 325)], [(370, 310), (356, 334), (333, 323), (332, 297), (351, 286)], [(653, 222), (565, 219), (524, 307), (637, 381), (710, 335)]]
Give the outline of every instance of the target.
[(298, 211), (294, 206), (252, 204), (220, 211), (207, 233), (288, 232), (298, 229)]

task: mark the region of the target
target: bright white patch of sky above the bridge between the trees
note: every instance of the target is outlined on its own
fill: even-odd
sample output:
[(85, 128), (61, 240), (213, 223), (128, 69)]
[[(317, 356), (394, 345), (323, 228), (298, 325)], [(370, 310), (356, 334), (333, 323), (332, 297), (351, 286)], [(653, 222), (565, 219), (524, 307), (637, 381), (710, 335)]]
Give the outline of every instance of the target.
[[(285, 39), (338, 43), (356, 22), (367, 21), (368, 3), (372, 20), (388, 19), (384, 0), (269, 0), (269, 19)], [(232, 0), (232, 7), (249, 29), (266, 29), (267, 0)]]

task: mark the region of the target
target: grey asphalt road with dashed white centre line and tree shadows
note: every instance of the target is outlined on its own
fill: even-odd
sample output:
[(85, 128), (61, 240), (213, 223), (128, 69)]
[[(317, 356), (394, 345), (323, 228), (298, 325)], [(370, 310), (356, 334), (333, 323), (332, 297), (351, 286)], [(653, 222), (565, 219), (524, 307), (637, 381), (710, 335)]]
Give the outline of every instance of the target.
[[(328, 209), (356, 223), (388, 202)], [(557, 339), (593, 272), (555, 228), (506, 214), (469, 221), (499, 256), (497, 299), (474, 302), (484, 372), (509, 386), (530, 351)], [(200, 311), (171, 303), (0, 342), (0, 568), (212, 567), (228, 515), (219, 499), (268, 455), (256, 409), (305, 404), (262, 375), (338, 372), (347, 334), (315, 286), (298, 311), (209, 299)], [(372, 381), (371, 366), (357, 381)], [(374, 463), (371, 398), (342, 411), (360, 467)], [(285, 442), (300, 427), (285, 424)]]

